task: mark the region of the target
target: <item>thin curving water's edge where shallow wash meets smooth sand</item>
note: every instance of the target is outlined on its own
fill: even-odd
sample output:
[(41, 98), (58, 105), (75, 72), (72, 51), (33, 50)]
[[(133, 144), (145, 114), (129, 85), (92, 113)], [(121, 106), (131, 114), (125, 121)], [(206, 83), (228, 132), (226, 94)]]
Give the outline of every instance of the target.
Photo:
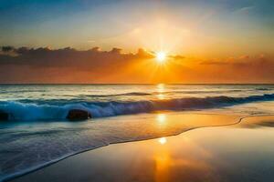
[[(217, 113), (192, 113), (192, 114), (195, 114), (195, 115), (210, 115), (210, 116), (211, 115), (217, 115), (217, 116), (224, 116), (225, 115), (225, 114), (217, 114)], [(230, 116), (230, 115), (226, 115), (226, 116)], [(184, 130), (182, 132), (179, 132), (179, 133), (176, 133), (176, 134), (167, 135), (167, 136), (160, 136), (160, 137), (180, 136), (180, 135), (184, 135), (184, 133), (187, 133), (189, 131), (193, 131), (193, 130), (196, 130), (196, 129), (202, 129), (202, 128), (208, 128), (208, 127), (236, 126), (238, 124), (243, 123), (244, 119), (247, 119), (247, 118), (250, 118), (250, 117), (264, 117), (264, 116), (274, 116), (274, 114), (260, 114), (260, 115), (254, 115), (254, 116), (239, 116), (239, 118), (237, 119), (237, 122), (235, 122), (235, 123), (231, 123), (231, 124), (227, 124), (227, 125), (218, 125), (218, 126), (216, 126), (216, 125), (212, 125), (212, 126), (197, 126), (197, 127), (186, 129), (186, 130)], [(25, 177), (28, 174), (34, 173), (34, 172), (36, 172), (38, 170), (43, 170), (46, 167), (50, 167), (52, 165), (58, 164), (60, 161), (68, 159), (69, 157), (78, 156), (78, 155), (81, 155), (82, 153), (94, 151), (95, 149), (98, 149), (98, 148), (101, 148), (101, 147), (109, 147), (109, 146), (115, 145), (115, 144), (127, 144), (127, 143), (133, 143), (133, 142), (153, 140), (153, 139), (157, 139), (157, 138), (160, 138), (160, 137), (159, 136), (155, 136), (155, 137), (146, 138), (146, 139), (124, 140), (124, 141), (121, 141), (121, 142), (109, 143), (108, 145), (103, 145), (103, 146), (100, 146), (100, 147), (94, 147), (94, 148), (90, 148), (90, 149), (85, 149), (85, 150), (79, 151), (77, 153), (70, 154), (68, 156), (61, 157), (61, 158), (59, 158), (57, 160), (48, 162), (47, 164), (43, 164), (43, 165), (41, 165), (39, 167), (31, 168), (31, 169), (29, 169), (27, 171), (24, 171), (22, 173), (18, 173), (16, 175), (12, 175), (10, 177), (5, 177), (3, 179), (3, 181), (13, 181), (13, 180), (15, 180), (15, 179), (17, 179), (19, 177)]]

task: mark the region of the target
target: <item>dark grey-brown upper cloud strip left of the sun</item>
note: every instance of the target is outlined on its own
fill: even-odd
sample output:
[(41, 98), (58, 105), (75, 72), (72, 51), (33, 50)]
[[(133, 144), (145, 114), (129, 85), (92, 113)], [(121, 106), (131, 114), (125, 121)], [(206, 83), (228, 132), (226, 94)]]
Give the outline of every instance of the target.
[(20, 47), (16, 49), (2, 48), (4, 53), (12, 50), (17, 56), (2, 54), (0, 65), (24, 65), (41, 67), (87, 67), (105, 66), (107, 64), (124, 63), (126, 60), (139, 59), (148, 55), (144, 50), (137, 54), (122, 54), (120, 48), (112, 48), (111, 51), (100, 51), (99, 47), (90, 50), (79, 51), (70, 47), (51, 50), (47, 47), (37, 49)]

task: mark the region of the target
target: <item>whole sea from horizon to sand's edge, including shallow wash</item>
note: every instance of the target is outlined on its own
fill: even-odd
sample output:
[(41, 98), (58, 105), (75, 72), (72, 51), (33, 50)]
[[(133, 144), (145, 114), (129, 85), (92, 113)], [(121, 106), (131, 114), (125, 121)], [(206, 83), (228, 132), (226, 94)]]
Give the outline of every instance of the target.
[[(71, 109), (91, 118), (68, 121)], [(271, 115), (274, 85), (1, 85), (0, 111), (11, 116), (0, 121), (3, 180), (92, 148), (189, 129), (177, 115)]]

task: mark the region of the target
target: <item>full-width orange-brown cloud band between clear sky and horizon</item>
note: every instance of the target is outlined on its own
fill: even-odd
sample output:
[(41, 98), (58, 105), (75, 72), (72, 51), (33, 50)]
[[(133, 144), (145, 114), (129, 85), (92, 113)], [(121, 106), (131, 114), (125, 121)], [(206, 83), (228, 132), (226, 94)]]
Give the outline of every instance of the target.
[(154, 53), (143, 48), (133, 54), (117, 47), (5, 46), (0, 83), (274, 83), (274, 63), (263, 54), (207, 61), (175, 55), (163, 66), (153, 59)]

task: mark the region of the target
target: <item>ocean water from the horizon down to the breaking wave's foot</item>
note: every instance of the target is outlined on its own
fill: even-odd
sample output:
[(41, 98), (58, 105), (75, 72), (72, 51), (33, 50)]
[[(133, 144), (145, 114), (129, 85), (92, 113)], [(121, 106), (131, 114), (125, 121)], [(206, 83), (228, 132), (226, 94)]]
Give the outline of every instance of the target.
[(0, 110), (14, 120), (66, 119), (68, 110), (92, 117), (192, 110), (274, 100), (273, 85), (5, 85)]

